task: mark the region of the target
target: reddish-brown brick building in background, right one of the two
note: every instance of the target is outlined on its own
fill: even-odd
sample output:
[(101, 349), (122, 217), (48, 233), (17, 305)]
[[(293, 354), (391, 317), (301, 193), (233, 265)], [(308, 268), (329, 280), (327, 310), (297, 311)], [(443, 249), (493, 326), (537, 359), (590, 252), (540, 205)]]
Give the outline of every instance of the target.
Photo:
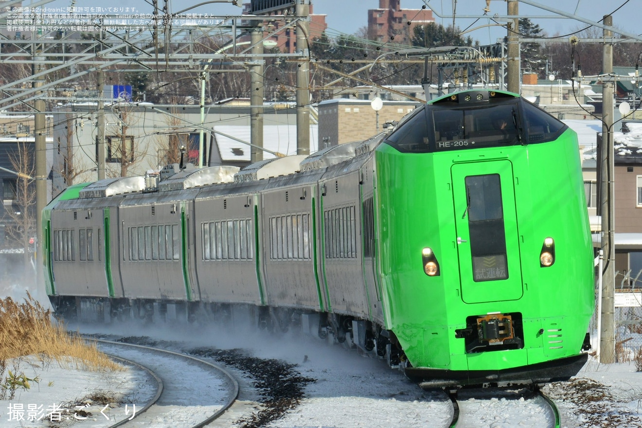
[(387, 42), (394, 37), (395, 43), (409, 44), (415, 26), (430, 22), (435, 19), (428, 8), (401, 9), (401, 0), (379, 0), (379, 8), (368, 11), (368, 39)]

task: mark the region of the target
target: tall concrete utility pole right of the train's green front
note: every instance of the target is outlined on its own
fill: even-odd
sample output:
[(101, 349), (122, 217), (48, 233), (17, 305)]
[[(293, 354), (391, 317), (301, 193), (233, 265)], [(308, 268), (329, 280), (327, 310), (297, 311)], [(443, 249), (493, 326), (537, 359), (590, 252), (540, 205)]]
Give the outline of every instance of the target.
[[(613, 25), (613, 17), (605, 15), (605, 26)], [(613, 33), (603, 30), (602, 73), (613, 72)], [(602, 216), (602, 250), (607, 260), (602, 278), (602, 325), (600, 329), (600, 363), (615, 363), (615, 221), (613, 161), (613, 91), (614, 78), (602, 83), (602, 150), (600, 150), (600, 215)]]

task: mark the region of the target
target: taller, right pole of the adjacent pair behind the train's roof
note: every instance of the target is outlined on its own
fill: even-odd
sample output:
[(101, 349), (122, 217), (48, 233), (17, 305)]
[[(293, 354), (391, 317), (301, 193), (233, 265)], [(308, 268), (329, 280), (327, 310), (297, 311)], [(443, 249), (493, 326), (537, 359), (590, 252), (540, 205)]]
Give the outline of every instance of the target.
[(297, 155), (310, 154), (310, 0), (298, 0), (297, 52), (301, 55), (297, 69)]

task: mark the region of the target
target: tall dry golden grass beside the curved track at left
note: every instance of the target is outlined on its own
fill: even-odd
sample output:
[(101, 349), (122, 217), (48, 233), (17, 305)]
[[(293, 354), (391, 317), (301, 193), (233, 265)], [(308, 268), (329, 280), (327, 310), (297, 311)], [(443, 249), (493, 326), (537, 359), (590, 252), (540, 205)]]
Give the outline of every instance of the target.
[(95, 345), (69, 336), (62, 325), (53, 323), (51, 311), (31, 295), (22, 304), (9, 297), (0, 300), (0, 366), (24, 355), (83, 370), (122, 370)]

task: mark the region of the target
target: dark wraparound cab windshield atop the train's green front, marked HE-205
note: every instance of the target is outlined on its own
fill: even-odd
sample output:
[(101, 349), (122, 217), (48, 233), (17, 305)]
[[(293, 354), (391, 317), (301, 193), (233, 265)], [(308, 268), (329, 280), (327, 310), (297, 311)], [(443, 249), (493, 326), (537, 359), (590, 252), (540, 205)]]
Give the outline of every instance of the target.
[(557, 139), (566, 125), (521, 98), (426, 105), (386, 139), (399, 151), (467, 150)]

